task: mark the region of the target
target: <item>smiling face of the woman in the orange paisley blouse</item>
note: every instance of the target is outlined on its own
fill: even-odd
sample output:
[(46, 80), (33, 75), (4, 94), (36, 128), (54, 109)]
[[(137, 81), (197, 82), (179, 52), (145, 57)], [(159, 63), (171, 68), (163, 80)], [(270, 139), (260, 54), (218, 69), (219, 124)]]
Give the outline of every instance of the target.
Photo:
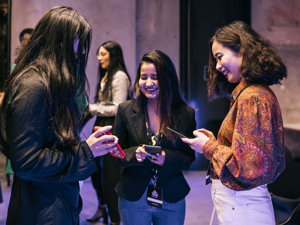
[(241, 81), (240, 66), (242, 57), (231, 49), (214, 41), (211, 47), (212, 54), (216, 59), (216, 69), (223, 73), (230, 83)]

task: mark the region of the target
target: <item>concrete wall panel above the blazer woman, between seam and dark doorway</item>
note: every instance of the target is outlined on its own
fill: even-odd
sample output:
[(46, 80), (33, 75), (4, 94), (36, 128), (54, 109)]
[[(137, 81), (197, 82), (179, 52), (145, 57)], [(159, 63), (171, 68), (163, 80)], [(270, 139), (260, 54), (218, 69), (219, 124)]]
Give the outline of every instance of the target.
[(179, 1), (137, 0), (137, 66), (154, 49), (166, 53), (179, 75)]

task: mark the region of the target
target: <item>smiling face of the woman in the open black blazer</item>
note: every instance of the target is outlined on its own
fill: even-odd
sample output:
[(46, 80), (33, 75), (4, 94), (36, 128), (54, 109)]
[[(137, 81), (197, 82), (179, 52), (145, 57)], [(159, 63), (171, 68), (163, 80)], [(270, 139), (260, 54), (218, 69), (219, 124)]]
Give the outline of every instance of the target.
[(139, 85), (146, 98), (149, 100), (158, 99), (159, 86), (156, 76), (156, 68), (153, 63), (142, 64)]

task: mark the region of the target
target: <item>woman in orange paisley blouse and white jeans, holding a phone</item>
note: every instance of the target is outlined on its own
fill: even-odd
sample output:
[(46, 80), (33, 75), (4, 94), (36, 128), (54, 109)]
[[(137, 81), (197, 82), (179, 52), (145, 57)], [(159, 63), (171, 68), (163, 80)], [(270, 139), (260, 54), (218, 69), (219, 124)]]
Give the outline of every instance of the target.
[(285, 168), (280, 107), (268, 87), (287, 77), (270, 41), (241, 21), (209, 41), (210, 101), (231, 98), (217, 140), (205, 129), (182, 141), (211, 161), (211, 196), (220, 224), (275, 224), (266, 184)]

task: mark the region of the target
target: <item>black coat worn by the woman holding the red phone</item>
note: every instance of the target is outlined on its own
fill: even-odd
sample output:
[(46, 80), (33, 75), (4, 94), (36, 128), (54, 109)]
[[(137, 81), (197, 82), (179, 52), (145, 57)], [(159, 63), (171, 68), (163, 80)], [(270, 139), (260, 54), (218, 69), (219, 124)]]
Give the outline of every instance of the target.
[(85, 141), (54, 148), (52, 101), (41, 76), (31, 70), (5, 95), (1, 142), (14, 171), (7, 224), (78, 224), (78, 181), (97, 164)]

